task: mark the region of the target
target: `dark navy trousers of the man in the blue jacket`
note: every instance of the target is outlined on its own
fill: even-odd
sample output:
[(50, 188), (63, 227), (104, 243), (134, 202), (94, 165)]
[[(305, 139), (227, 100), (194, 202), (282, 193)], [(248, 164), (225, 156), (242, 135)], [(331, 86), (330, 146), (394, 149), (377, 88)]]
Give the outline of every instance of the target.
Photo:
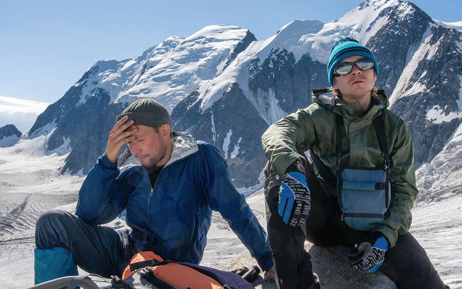
[(64, 210), (43, 213), (35, 225), (35, 247), (69, 249), (75, 263), (86, 272), (103, 277), (122, 276), (133, 251), (127, 230), (88, 225)]

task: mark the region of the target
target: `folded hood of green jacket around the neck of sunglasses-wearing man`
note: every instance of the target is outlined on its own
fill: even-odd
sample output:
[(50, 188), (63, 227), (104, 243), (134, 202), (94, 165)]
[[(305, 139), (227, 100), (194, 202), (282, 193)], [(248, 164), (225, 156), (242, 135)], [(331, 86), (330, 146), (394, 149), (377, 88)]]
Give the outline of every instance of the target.
[[(385, 91), (383, 89), (377, 90), (377, 96), (373, 99), (373, 102), (373, 107), (378, 106), (376, 109), (377, 112), (381, 112), (389, 106), (387, 95), (385, 95)], [(346, 104), (341, 98), (334, 95), (330, 88), (313, 89), (312, 103), (317, 103), (320, 106), (332, 109), (337, 112), (339, 112), (339, 110), (344, 110), (342, 107), (349, 106), (350, 110), (357, 110), (358, 113), (361, 113), (361, 108), (358, 102), (354, 102), (353, 104)], [(339, 108), (339, 110), (334, 108)]]

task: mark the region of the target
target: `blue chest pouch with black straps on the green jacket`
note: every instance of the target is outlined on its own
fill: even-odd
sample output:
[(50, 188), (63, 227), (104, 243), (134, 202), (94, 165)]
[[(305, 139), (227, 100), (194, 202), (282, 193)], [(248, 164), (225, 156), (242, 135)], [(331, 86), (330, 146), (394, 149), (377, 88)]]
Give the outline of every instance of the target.
[(355, 230), (371, 231), (385, 218), (391, 198), (390, 158), (383, 117), (374, 119), (383, 166), (375, 168), (341, 167), (341, 130), (343, 121), (336, 114), (337, 200), (344, 222)]

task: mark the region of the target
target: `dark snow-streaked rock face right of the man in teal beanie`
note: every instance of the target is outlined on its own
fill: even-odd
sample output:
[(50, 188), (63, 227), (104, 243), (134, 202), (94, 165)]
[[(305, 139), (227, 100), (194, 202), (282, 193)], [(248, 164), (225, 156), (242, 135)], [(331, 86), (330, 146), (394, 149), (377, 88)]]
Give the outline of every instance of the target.
[[(462, 51), (454, 42), (462, 41), (462, 33), (444, 27), (432, 27), (431, 31), (429, 48), (412, 74), (405, 97), (392, 107), (411, 130), (417, 166), (431, 161), (462, 122)], [(413, 87), (425, 87), (420, 89), (425, 91)]]

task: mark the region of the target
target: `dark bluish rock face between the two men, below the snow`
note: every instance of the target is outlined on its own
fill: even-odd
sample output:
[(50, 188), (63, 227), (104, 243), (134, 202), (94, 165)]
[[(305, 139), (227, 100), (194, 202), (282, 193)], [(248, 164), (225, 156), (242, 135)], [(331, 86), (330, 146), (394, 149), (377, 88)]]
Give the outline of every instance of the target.
[(237, 83), (229, 86), (212, 107), (200, 112), (197, 92), (177, 105), (171, 114), (174, 129), (187, 131), (217, 147), (227, 160), (237, 187), (249, 187), (258, 178), (265, 157), (260, 136), (267, 124), (245, 98)]

